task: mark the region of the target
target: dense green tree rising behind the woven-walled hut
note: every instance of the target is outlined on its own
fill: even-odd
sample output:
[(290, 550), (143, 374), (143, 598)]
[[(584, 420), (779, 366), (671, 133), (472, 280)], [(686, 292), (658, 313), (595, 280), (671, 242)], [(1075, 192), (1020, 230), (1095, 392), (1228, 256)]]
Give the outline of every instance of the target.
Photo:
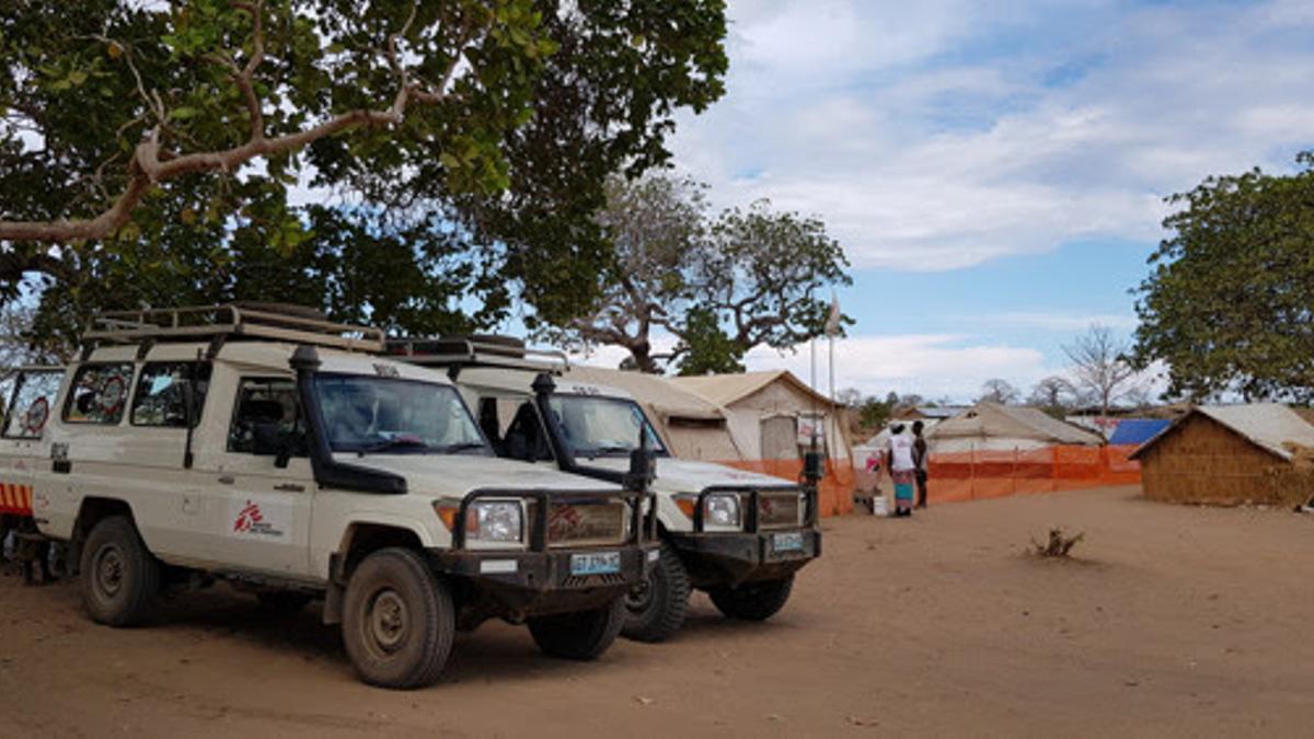
[(1314, 155), (1298, 160), (1168, 199), (1180, 209), (1137, 291), (1134, 350), (1167, 366), (1168, 394), (1314, 398)]

